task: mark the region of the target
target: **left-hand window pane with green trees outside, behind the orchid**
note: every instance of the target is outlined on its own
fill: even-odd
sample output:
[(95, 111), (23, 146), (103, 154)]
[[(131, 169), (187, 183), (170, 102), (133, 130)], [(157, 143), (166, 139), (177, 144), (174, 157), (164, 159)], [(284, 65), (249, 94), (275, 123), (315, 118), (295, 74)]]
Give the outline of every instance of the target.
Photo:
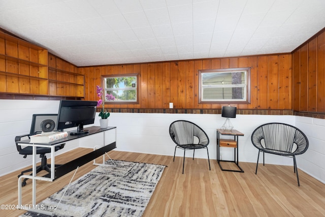
[(105, 103), (137, 104), (138, 74), (106, 75), (104, 77), (105, 94), (111, 94), (114, 100), (105, 99)]

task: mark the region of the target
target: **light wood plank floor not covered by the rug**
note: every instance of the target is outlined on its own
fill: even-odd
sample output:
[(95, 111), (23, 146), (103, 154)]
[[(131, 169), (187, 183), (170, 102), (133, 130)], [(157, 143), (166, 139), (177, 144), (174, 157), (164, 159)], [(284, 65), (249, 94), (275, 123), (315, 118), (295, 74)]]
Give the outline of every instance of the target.
[[(63, 163), (89, 149), (78, 148), (63, 153), (56, 163)], [(173, 162), (171, 156), (111, 151), (116, 160), (167, 165), (144, 212), (148, 216), (325, 216), (325, 184), (299, 170), (300, 187), (293, 167), (259, 166), (240, 163), (244, 173), (221, 171), (211, 160), (188, 158), (182, 174), (182, 158)], [(224, 162), (223, 162), (224, 163)], [(299, 162), (298, 162), (299, 163)], [(229, 166), (229, 165), (223, 165)], [(79, 168), (75, 179), (95, 166), (92, 162)], [(231, 167), (231, 166), (229, 166)], [(54, 182), (37, 182), (37, 200), (57, 192), (67, 185), (71, 173)], [(1, 177), (0, 204), (17, 205), (18, 172)], [(23, 204), (31, 204), (31, 181), (23, 189)], [(24, 210), (0, 210), (1, 216), (18, 216)]]

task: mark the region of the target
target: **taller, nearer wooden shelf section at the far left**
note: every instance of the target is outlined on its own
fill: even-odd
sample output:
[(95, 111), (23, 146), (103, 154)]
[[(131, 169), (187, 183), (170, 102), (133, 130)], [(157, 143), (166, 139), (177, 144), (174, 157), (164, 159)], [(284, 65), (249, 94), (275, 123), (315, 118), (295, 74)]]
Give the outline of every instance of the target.
[(48, 95), (47, 50), (0, 32), (0, 92)]

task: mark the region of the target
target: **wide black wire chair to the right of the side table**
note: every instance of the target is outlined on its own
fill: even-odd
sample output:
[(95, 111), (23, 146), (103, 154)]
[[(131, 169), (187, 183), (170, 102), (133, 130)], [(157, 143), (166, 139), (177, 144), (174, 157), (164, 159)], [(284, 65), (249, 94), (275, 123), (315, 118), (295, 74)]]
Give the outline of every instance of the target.
[(256, 128), (251, 136), (253, 145), (258, 149), (256, 171), (258, 167), (259, 153), (263, 152), (263, 166), (265, 165), (265, 152), (277, 154), (294, 159), (294, 172), (299, 176), (296, 155), (304, 153), (308, 149), (308, 139), (298, 128), (286, 123), (265, 123)]

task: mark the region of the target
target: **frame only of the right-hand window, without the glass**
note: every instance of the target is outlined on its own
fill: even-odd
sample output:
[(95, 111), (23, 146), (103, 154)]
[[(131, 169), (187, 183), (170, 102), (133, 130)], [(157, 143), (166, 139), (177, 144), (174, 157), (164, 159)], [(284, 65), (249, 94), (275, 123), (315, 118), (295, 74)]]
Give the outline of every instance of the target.
[[(199, 104), (250, 104), (250, 67), (229, 68), (229, 69), (206, 69), (199, 71)], [(203, 73), (231, 73), (246, 71), (246, 100), (226, 99), (226, 100), (203, 100), (202, 74)]]

